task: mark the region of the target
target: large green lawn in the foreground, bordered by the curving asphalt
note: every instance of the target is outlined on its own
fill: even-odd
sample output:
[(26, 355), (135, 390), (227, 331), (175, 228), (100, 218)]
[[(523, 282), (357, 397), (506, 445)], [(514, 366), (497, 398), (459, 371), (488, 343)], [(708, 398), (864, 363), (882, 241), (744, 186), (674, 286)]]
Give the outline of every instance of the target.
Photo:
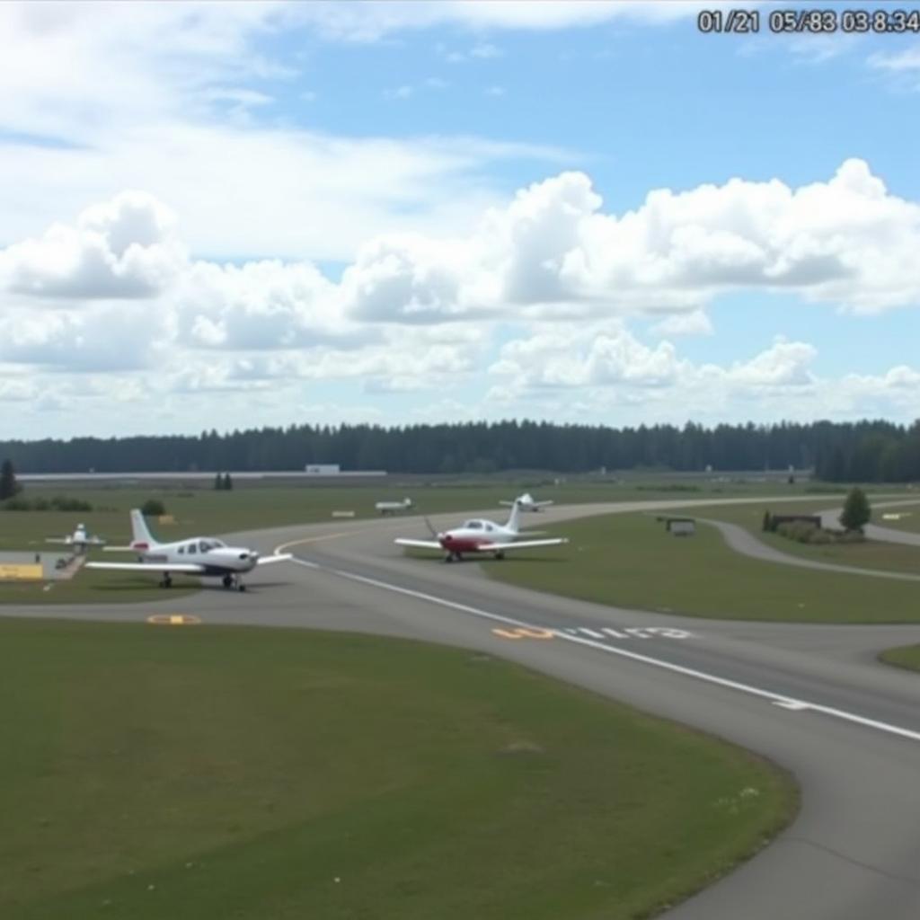
[(4, 920), (648, 916), (788, 776), (463, 650), (0, 620)]

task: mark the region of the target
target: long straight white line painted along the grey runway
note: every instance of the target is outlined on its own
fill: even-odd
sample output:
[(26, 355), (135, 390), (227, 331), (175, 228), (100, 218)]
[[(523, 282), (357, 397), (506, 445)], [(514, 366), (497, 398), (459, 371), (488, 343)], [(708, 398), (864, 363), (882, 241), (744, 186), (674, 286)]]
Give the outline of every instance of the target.
[[(374, 588), (381, 588), (384, 591), (404, 594), (407, 597), (414, 597), (420, 601), (426, 601), (429, 604), (438, 604), (443, 607), (449, 607), (453, 610), (459, 610), (463, 613), (480, 617), (481, 619), (491, 620), (492, 622), (505, 623), (512, 627), (521, 627), (523, 629), (530, 630), (546, 631), (550, 628), (540, 626), (535, 623), (527, 623), (523, 620), (515, 619), (512, 616), (493, 614), (488, 610), (482, 610), (479, 607), (473, 607), (470, 604), (460, 604), (457, 601), (449, 601), (447, 598), (438, 597), (436, 594), (429, 594), (423, 591), (415, 591), (412, 588), (403, 588), (402, 586), (392, 584), (389, 581), (381, 581), (380, 579), (368, 578), (366, 575), (357, 574), (357, 572), (350, 572), (345, 569), (335, 569), (331, 566), (320, 565), (317, 562), (311, 562), (307, 559), (297, 558), (296, 556), (291, 561), (297, 563), (298, 565), (304, 566), (305, 569), (314, 569), (316, 571), (328, 572), (333, 575), (338, 575), (339, 578), (343, 578), (348, 581), (357, 581), (360, 584), (370, 585)], [(694, 680), (701, 681), (704, 684), (715, 684), (716, 686), (725, 687), (729, 690), (737, 690), (740, 693), (747, 694), (748, 696), (757, 696), (760, 699), (769, 700), (774, 705), (793, 712), (801, 712), (805, 710), (810, 710), (811, 712), (820, 712), (823, 715), (830, 716), (833, 719), (843, 719), (848, 722), (854, 722), (855, 724), (861, 725), (864, 728), (885, 731), (889, 734), (897, 735), (900, 738), (906, 738), (910, 741), (920, 742), (920, 731), (903, 729), (901, 726), (891, 725), (889, 722), (881, 722), (877, 719), (868, 719), (865, 716), (857, 715), (855, 712), (846, 712), (844, 709), (822, 706), (821, 703), (811, 703), (808, 700), (796, 699), (793, 696), (786, 696), (785, 694), (776, 693), (773, 690), (764, 690), (760, 687), (755, 687), (752, 684), (742, 684), (740, 681), (732, 681), (727, 677), (719, 677), (718, 674), (710, 674), (706, 671), (697, 671), (696, 668), (688, 668), (683, 664), (675, 664), (673, 661), (664, 661), (661, 658), (652, 658), (650, 655), (644, 655), (638, 651), (630, 651), (615, 645), (605, 645), (603, 642), (599, 642), (596, 639), (573, 636), (568, 632), (560, 632), (558, 630), (552, 630), (552, 632), (555, 638), (560, 638), (566, 642), (574, 642), (577, 645), (587, 646), (590, 649), (604, 651), (608, 655), (619, 655), (621, 658), (628, 658), (632, 661), (640, 661), (643, 664), (649, 664), (652, 667), (661, 668), (664, 671), (670, 671), (675, 674), (682, 674), (684, 677), (693, 678)]]

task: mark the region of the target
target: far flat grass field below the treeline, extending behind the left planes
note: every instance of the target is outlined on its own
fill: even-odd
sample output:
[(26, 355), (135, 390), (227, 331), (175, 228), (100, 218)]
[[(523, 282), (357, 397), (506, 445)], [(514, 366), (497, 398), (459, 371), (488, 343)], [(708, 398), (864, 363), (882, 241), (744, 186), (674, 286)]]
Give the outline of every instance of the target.
[[(92, 512), (7, 512), (0, 511), (0, 550), (17, 549), (34, 552), (60, 547), (45, 544), (46, 536), (72, 533), (75, 524), (86, 523), (90, 533), (101, 535), (110, 543), (124, 545), (131, 539), (128, 512), (144, 500), (159, 498), (175, 523), (153, 523), (155, 535), (163, 540), (178, 540), (192, 535), (221, 535), (265, 527), (291, 524), (331, 522), (333, 511), (354, 511), (358, 518), (378, 516), (374, 502), (409, 495), (420, 513), (467, 512), (494, 508), (495, 517), (504, 520), (508, 509), (499, 500), (512, 498), (524, 489), (538, 499), (558, 503), (627, 500), (687, 500), (746, 497), (758, 494), (775, 496), (778, 503), (790, 495), (808, 494), (809, 484), (788, 486), (785, 482), (719, 482), (708, 479), (687, 481), (669, 477), (630, 477), (620, 482), (592, 482), (573, 479), (558, 486), (552, 480), (513, 482), (477, 482), (469, 485), (409, 484), (399, 480), (373, 485), (351, 486), (280, 486), (239, 485), (230, 492), (218, 492), (209, 484), (190, 487), (109, 486), (109, 488), (72, 487), (69, 494), (93, 504)], [(65, 494), (66, 487), (29, 486), (27, 498), (51, 498)], [(828, 507), (834, 497), (816, 499), (815, 507)], [(806, 502), (805, 504), (809, 504)], [(810, 505), (811, 506), (811, 505)], [(757, 506), (760, 508), (760, 506)], [(797, 506), (800, 507), (800, 506)], [(762, 512), (761, 512), (762, 513)], [(539, 523), (533, 515), (532, 526)], [(91, 558), (113, 556), (93, 550)], [(125, 557), (118, 557), (125, 558)], [(172, 589), (179, 592), (197, 590), (198, 581), (177, 578)], [(132, 603), (164, 598), (156, 586), (155, 576), (115, 575), (105, 571), (80, 571), (71, 581), (53, 582), (44, 590), (41, 582), (0, 582), (2, 604), (108, 604)]]

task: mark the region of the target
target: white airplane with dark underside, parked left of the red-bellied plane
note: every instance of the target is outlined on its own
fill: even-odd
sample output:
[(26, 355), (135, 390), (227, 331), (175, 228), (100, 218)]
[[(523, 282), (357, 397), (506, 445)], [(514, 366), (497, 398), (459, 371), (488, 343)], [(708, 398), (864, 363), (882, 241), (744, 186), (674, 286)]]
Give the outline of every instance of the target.
[(174, 572), (184, 575), (201, 575), (203, 578), (219, 578), (224, 588), (246, 591), (240, 576), (256, 566), (290, 559), (291, 554), (282, 556), (259, 556), (253, 549), (243, 546), (227, 546), (223, 540), (213, 536), (192, 536), (175, 543), (158, 543), (150, 531), (144, 515), (136, 508), (131, 512), (132, 541), (130, 549), (138, 554), (137, 562), (87, 562), (86, 569), (121, 569), (122, 571), (162, 572), (161, 588), (172, 584)]

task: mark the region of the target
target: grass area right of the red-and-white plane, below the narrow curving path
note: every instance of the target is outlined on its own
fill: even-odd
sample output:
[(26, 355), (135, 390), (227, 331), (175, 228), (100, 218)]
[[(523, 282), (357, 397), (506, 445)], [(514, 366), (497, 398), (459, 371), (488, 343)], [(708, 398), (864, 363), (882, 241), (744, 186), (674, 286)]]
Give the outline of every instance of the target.
[[(763, 511), (761, 510), (761, 514)], [(920, 583), (799, 569), (747, 558), (712, 525), (675, 537), (649, 514), (546, 528), (569, 546), (482, 563), (493, 578), (599, 604), (719, 619), (920, 622)]]

